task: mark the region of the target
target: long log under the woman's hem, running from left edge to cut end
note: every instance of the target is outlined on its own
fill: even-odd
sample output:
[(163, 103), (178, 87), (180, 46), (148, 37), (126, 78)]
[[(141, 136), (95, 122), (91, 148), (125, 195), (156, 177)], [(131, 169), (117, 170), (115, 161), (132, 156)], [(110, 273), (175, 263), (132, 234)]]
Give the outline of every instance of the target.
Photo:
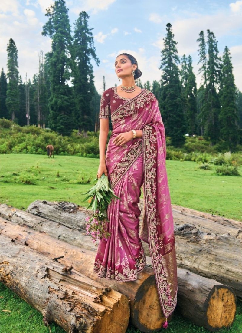
[[(33, 215), (36, 218), (36, 216)], [(153, 332), (162, 327), (165, 317), (158, 298), (154, 272), (145, 267), (138, 274), (138, 279), (131, 282), (115, 282), (98, 277), (93, 272), (95, 252), (53, 239), (43, 232), (35, 232), (31, 228), (0, 218), (0, 233), (16, 239), (15, 242), (28, 245), (29, 248), (41, 252), (49, 258), (57, 258), (60, 263), (73, 266), (77, 271), (99, 282), (100, 284), (119, 291), (130, 299), (131, 320), (142, 332)], [(88, 237), (90, 238), (90, 237)]]

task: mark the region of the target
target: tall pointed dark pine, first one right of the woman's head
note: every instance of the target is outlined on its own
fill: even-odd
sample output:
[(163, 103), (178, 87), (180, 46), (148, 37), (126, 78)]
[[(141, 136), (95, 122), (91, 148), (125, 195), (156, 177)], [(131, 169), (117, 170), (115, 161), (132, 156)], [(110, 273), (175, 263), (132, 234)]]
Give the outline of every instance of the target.
[(171, 144), (182, 146), (185, 141), (185, 120), (179, 81), (179, 57), (174, 34), (170, 23), (166, 25), (164, 48), (161, 51), (161, 98), (160, 107), (166, 128), (166, 135), (171, 137)]

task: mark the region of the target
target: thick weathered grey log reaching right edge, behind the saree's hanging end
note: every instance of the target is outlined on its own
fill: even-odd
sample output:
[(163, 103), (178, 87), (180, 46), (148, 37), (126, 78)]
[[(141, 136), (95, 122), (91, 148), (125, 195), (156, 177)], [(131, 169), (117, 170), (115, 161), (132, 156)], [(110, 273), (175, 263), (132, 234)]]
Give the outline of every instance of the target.
[(179, 267), (230, 286), (242, 298), (241, 239), (184, 224), (175, 227), (175, 242)]

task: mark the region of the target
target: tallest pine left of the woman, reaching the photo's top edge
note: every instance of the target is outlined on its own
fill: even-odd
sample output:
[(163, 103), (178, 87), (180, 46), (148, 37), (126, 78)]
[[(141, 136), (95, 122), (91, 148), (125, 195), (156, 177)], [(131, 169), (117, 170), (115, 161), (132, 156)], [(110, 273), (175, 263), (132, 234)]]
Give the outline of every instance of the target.
[(62, 135), (70, 135), (74, 127), (73, 89), (68, 85), (72, 73), (71, 27), (64, 0), (55, 1), (47, 9), (48, 22), (42, 34), (52, 39), (48, 55), (51, 84), (49, 126)]

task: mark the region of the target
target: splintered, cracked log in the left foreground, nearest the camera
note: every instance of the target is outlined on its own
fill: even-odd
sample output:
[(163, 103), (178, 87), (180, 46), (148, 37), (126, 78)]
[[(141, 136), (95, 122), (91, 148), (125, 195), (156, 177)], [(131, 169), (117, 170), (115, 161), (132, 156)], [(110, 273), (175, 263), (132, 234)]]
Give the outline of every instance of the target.
[[(0, 235), (0, 278), (7, 287), (66, 332), (126, 331), (126, 296), (76, 270)], [(68, 272), (70, 271), (70, 272)]]

